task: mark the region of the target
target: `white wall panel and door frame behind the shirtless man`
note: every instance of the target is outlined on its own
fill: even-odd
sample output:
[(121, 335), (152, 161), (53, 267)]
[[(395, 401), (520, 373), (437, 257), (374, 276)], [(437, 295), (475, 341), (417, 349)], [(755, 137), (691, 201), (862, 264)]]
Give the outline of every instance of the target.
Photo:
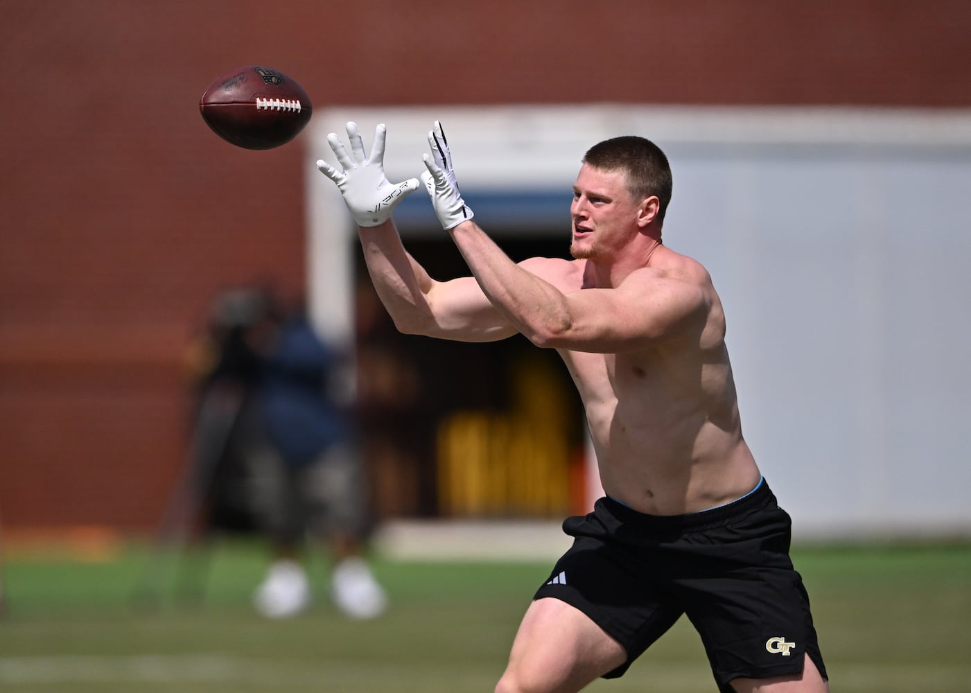
[[(396, 181), (419, 174), (435, 118), (467, 200), (532, 191), (539, 204), (563, 187), (568, 205), (589, 145), (657, 142), (675, 181), (665, 243), (705, 264), (720, 291), (745, 436), (797, 535), (971, 532), (971, 113), (324, 111), (307, 162), (311, 294), (331, 330), (350, 326), (352, 226), (313, 165), (334, 160), (326, 133), (355, 119), (370, 148), (387, 123)], [(409, 205), (427, 206), (423, 195)], [(497, 236), (514, 221), (490, 220)], [(539, 232), (566, 238), (568, 226)]]

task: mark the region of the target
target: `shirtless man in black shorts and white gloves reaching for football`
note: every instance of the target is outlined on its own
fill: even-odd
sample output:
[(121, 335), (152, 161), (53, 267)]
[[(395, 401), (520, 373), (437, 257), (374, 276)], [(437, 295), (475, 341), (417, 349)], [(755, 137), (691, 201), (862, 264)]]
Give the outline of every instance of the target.
[(441, 125), (421, 180), (472, 277), (435, 281), (390, 219), (419, 186), (384, 173), (354, 123), (344, 195), (372, 281), (399, 330), (464, 342), (524, 335), (555, 348), (586, 409), (606, 497), (570, 517), (575, 538), (523, 616), (500, 693), (578, 691), (619, 677), (686, 613), (720, 691), (827, 691), (791, 523), (742, 437), (718, 294), (662, 245), (671, 171), (648, 140), (586, 152), (573, 186), (572, 260), (513, 262), (462, 200)]

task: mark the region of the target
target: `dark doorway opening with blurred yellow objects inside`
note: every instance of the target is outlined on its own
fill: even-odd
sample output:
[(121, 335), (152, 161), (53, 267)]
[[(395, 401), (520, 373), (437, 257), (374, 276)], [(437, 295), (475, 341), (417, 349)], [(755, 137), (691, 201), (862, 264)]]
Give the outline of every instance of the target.
[[(468, 276), (452, 241), (407, 238), (437, 280)], [(504, 230), (519, 261), (566, 244)], [(362, 432), (382, 516), (555, 517), (583, 503), (585, 422), (552, 349), (515, 336), (464, 344), (398, 333), (356, 251)]]

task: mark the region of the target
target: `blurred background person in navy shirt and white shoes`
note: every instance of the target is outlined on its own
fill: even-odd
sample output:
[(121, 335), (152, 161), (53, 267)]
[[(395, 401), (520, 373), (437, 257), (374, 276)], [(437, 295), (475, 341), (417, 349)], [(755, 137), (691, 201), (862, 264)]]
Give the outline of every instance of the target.
[(346, 356), (320, 339), (302, 302), (274, 310), (280, 314), (262, 354), (247, 451), (254, 508), (273, 549), (253, 603), (274, 618), (309, 606), (301, 557), (311, 539), (329, 553), (334, 605), (352, 618), (373, 618), (387, 598), (365, 560), (371, 518), (352, 372)]

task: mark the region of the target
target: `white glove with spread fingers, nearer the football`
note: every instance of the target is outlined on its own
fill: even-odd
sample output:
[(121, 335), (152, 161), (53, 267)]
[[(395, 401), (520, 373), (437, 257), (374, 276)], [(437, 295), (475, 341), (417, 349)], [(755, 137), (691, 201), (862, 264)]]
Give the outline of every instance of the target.
[(348, 140), (351, 154), (334, 133), (327, 135), (327, 143), (334, 150), (337, 161), (344, 168), (338, 171), (326, 161), (317, 162), (324, 176), (337, 183), (344, 195), (344, 204), (358, 226), (378, 226), (387, 221), (395, 205), (419, 187), (419, 180), (412, 178), (392, 183), (385, 178), (385, 124), (378, 125), (374, 134), (371, 157), (364, 156), (364, 141), (357, 132), (357, 125), (349, 122)]

